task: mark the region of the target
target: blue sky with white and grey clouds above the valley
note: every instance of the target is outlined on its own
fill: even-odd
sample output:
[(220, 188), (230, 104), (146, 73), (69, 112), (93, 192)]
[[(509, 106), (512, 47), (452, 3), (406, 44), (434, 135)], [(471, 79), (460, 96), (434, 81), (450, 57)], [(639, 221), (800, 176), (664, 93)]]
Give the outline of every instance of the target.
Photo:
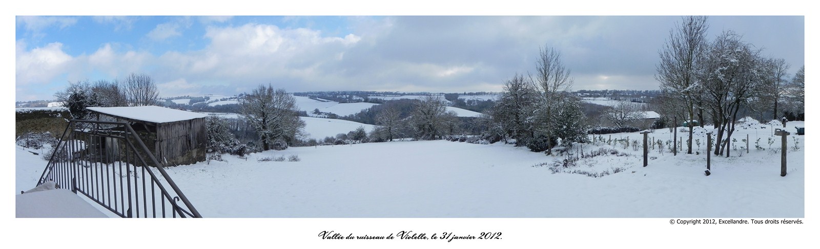
[[(657, 89), (658, 50), (680, 16), (16, 16), (16, 101), (68, 82), (146, 73), (162, 97), (249, 92), (499, 91), (563, 54), (573, 90)], [(710, 16), (804, 65), (803, 16)]]

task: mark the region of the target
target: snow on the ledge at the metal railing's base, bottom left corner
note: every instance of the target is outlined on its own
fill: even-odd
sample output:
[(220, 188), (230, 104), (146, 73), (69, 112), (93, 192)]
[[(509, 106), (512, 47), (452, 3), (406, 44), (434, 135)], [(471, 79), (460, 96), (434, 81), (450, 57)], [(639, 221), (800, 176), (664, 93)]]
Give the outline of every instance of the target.
[(68, 189), (18, 194), (15, 210), (17, 218), (108, 218)]

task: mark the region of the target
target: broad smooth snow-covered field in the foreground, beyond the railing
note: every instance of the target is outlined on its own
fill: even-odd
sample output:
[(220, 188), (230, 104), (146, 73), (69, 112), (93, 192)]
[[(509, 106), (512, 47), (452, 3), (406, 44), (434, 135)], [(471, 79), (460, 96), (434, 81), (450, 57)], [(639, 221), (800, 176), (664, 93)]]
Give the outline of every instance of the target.
[[(755, 126), (736, 138), (755, 134), (766, 141), (771, 127)], [(650, 137), (665, 140), (667, 133), (658, 129)], [(710, 176), (704, 144), (699, 155), (656, 148), (647, 167), (640, 148), (586, 144), (573, 153), (617, 155), (551, 168), (567, 157), (448, 141), (291, 147), (168, 172), (206, 217), (804, 217), (804, 136), (790, 136), (789, 147), (795, 138), (799, 148), (788, 151), (786, 177), (768, 143), (742, 156), (740, 148), (730, 158), (713, 156)], [(291, 155), (301, 161), (257, 161)], [(21, 147), (16, 157), (17, 191), (33, 188), (46, 162)]]

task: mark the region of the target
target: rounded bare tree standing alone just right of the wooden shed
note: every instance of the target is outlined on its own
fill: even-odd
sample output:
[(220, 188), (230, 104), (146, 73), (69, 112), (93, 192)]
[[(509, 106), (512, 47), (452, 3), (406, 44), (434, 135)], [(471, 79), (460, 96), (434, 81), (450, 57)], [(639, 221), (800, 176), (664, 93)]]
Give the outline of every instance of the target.
[(259, 85), (239, 104), (240, 111), (262, 140), (262, 150), (270, 150), (273, 143), (282, 140), (292, 143), (305, 126), (299, 119), (294, 97), (285, 89), (274, 91), (270, 84)]

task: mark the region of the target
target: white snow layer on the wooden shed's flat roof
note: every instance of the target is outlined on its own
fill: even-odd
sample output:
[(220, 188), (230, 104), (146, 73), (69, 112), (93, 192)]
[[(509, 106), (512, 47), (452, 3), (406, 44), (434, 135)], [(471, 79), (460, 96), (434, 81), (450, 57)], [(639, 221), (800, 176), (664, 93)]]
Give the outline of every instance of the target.
[(153, 123), (193, 120), (207, 116), (207, 114), (203, 113), (180, 111), (160, 106), (87, 107), (86, 109), (125, 119), (143, 120)]

